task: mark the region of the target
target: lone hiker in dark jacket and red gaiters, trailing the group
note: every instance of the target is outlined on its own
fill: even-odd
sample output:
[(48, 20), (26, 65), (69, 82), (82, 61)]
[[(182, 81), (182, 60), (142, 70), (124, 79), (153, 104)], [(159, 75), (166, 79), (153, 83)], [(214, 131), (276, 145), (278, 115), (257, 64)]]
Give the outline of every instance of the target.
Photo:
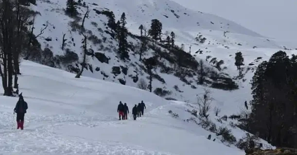
[(18, 95), (18, 101), (16, 104), (16, 108), (14, 109), (14, 112), (17, 113), (17, 129), (24, 129), (24, 117), (25, 113), (27, 112), (28, 109), (28, 104), (27, 102), (24, 101), (22, 93)]

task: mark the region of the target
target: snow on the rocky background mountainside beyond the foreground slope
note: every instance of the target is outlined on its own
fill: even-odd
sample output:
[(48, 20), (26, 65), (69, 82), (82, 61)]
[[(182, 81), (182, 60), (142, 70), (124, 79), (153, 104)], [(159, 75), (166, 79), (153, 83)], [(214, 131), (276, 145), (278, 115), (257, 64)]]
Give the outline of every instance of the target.
[[(129, 52), (131, 61), (120, 61), (116, 54), (118, 43), (108, 34), (110, 33), (110, 30), (106, 29), (108, 17), (102, 14), (102, 11), (113, 11), (116, 20), (125, 12), (128, 31), (137, 35), (140, 33), (138, 29), (140, 24), (149, 28), (150, 20), (157, 18), (163, 24), (163, 33), (166, 33), (166, 31), (175, 32), (175, 43), (177, 45), (184, 44), (186, 52), (189, 51), (191, 46), (191, 54), (197, 62), (199, 60), (211, 61), (210, 64), (216, 66), (218, 62), (223, 61), (221, 71), (212, 67), (213, 73), (219, 73), (223, 76), (222, 79), (238, 76), (238, 71), (234, 65), (235, 52), (243, 52), (245, 58), (244, 68), (246, 69), (256, 66), (257, 62), (268, 59), (272, 53), (283, 48), (278, 43), (267, 40), (260, 34), (249, 31), (227, 19), (194, 12), (170, 0), (85, 0), (84, 2), (86, 2), (90, 10), (89, 16), (85, 21), (86, 33), (89, 36), (87, 47), (94, 52), (88, 58), (88, 70), (83, 72), (83, 75), (87, 77), (104, 79), (133, 87), (137, 87), (140, 78), (148, 81), (148, 74), (143, 71), (143, 63), (139, 61), (138, 47), (140, 46), (140, 40), (133, 36), (128, 37), (128, 42), (130, 42), (134, 50)], [(43, 29), (46, 22), (49, 22), (44, 33), (37, 37), (41, 47), (48, 47), (54, 55), (65, 55), (68, 54), (67, 51), (73, 51), (82, 59), (81, 40), (83, 36), (78, 31), (82, 20), (75, 21), (65, 15), (65, 1), (37, 0), (36, 3), (36, 6), (31, 6), (33, 10), (39, 13), (35, 18), (35, 34), (39, 34), (38, 30)], [(81, 13), (80, 16), (83, 17), (87, 8), (83, 6), (78, 8), (79, 13)], [(224, 32), (226, 32), (225, 36)], [(64, 50), (61, 49), (63, 34), (65, 34), (65, 39), (67, 39)], [(199, 35), (201, 38), (206, 38), (204, 43), (196, 41), (195, 38), (199, 37)], [(163, 38), (166, 38), (166, 35), (163, 35)], [(161, 48), (161, 50), (164, 50), (164, 48)], [(155, 51), (149, 48), (144, 53), (143, 58), (149, 58), (154, 53)], [(260, 57), (262, 57), (260, 61), (254, 62)], [(76, 66), (79, 66), (78, 62), (75, 63)], [(70, 62), (69, 64), (75, 68), (75, 63)], [(153, 80), (153, 91), (156, 88), (161, 88), (170, 92), (164, 98), (174, 98), (195, 103), (196, 95), (202, 93), (203, 90), (201, 88), (204, 87), (198, 84), (198, 76), (195, 73), (190, 76), (186, 75), (186, 77), (175, 76), (180, 75), (180, 71), (171, 73), (166, 71), (164, 73), (164, 70), (172, 68), (172, 64), (168, 60), (162, 60), (160, 63), (162, 64), (161, 67), (158, 67), (154, 72), (156, 76)], [(68, 66), (68, 68), (65, 68), (65, 66)], [(60, 67), (64, 68), (64, 70), (73, 71), (73, 67), (65, 66)], [(181, 71), (184, 72), (183, 69)], [(232, 92), (213, 89), (213, 92), (218, 92), (222, 96), (234, 96), (230, 100), (222, 100), (220, 96), (214, 96), (216, 104), (221, 107), (234, 106), (230, 103), (237, 103), (237, 110), (229, 111), (226, 113), (227, 115), (238, 112), (243, 107), (243, 103), (246, 100), (250, 100), (248, 82), (252, 73), (248, 71), (247, 74), (250, 76), (246, 77), (247, 80), (245, 82), (242, 79), (236, 80), (235, 78), (239, 88), (245, 87), (244, 89)], [(212, 79), (209, 80), (211, 83)], [(245, 97), (242, 97), (243, 94)]]

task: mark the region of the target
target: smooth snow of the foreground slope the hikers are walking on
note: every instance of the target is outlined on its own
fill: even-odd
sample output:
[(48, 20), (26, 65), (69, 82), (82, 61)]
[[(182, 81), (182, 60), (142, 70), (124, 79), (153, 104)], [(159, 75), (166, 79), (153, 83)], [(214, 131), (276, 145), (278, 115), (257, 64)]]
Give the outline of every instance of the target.
[[(21, 71), (20, 91), (29, 107), (25, 127), (16, 129), (13, 109), (18, 98), (1, 96), (1, 155), (245, 155), (224, 145), (220, 136), (184, 121), (192, 116), (185, 110), (195, 105), (121, 84), (74, 78), (29, 61), (22, 62)], [(133, 121), (130, 112), (128, 120), (118, 120), (119, 101), (131, 110), (141, 100), (147, 107), (144, 117)], [(169, 110), (179, 116), (172, 117)], [(245, 134), (225, 121), (215, 124), (231, 129), (237, 139)]]

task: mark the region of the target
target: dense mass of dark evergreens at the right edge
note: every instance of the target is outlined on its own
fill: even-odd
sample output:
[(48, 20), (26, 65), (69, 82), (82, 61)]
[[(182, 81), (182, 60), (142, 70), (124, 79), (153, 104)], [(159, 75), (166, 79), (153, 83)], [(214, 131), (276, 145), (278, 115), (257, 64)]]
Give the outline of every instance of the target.
[(297, 56), (283, 51), (263, 61), (252, 78), (246, 129), (278, 147), (297, 147)]

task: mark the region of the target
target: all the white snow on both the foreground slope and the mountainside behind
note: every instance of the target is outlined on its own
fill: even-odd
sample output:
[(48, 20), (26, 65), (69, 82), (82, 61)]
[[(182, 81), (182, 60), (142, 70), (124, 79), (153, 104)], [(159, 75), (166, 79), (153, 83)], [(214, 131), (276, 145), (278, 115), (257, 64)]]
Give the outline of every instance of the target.
[[(217, 58), (217, 61), (223, 60), (222, 68), (227, 67), (227, 69), (223, 69), (220, 73), (228, 74), (233, 78), (238, 83), (239, 89), (224, 91), (208, 88), (214, 98), (211, 103), (210, 120), (217, 127), (226, 126), (237, 140), (246, 132), (229, 125), (230, 122), (236, 123), (236, 121), (228, 120), (220, 123), (217, 119), (224, 115), (248, 111), (245, 110), (244, 102), (252, 99), (249, 82), (254, 69), (279, 50), (285, 51), (288, 55), (296, 54), (294, 44), (262, 36), (262, 32), (251, 31), (228, 20), (226, 16), (224, 16), (226, 19), (219, 17), (220, 14), (216, 16), (204, 10), (201, 10), (203, 13), (193, 11), (187, 8), (188, 6), (182, 6), (186, 3), (181, 0), (84, 1), (91, 10), (85, 21), (85, 28), (91, 31), (88, 35), (93, 34), (101, 40), (106, 37), (106, 42), (99, 45), (88, 41), (87, 47), (95, 52), (104, 53), (107, 58), (110, 58), (109, 63), (102, 63), (96, 58), (88, 57), (88, 63), (92, 65), (94, 72), (85, 70), (83, 77), (77, 79), (74, 78), (74, 74), (63, 71), (68, 70), (65, 67), (59, 70), (22, 61), (22, 75), (19, 78), (20, 92), (23, 92), (29, 104), (28, 113), (25, 116), (25, 130), (15, 130), (15, 116), (12, 112), (17, 98), (0, 96), (0, 154), (244, 155), (244, 152), (234, 145), (227, 147), (226, 143), (220, 141), (220, 136), (217, 137), (193, 122), (184, 121), (194, 117), (185, 110), (197, 109), (195, 105), (197, 95), (202, 95), (206, 86), (193, 82), (192, 85), (197, 89), (192, 89), (191, 85), (186, 85), (178, 77), (161, 73), (160, 68), (157, 68), (154, 73), (163, 78), (166, 83), (154, 79), (153, 88), (166, 88), (172, 94), (165, 97), (179, 101), (168, 101), (153, 93), (137, 89), (137, 83), (131, 77), (137, 75), (139, 79), (147, 79), (148, 76), (141, 70), (139, 55), (133, 55), (133, 52), (130, 52), (131, 61), (119, 61), (114, 52), (118, 43), (104, 32), (107, 30), (105, 28), (107, 17), (97, 15), (93, 9), (102, 11), (107, 8), (115, 13), (116, 20), (122, 12), (125, 12), (128, 31), (134, 34), (140, 33), (138, 29), (140, 24), (149, 28), (150, 21), (157, 18), (163, 24), (164, 33), (165, 31), (175, 32), (175, 44), (184, 44), (185, 51), (188, 51), (192, 45), (191, 54), (197, 61), (203, 60), (210, 66), (212, 58)], [(206, 3), (203, 2), (203, 4)], [(200, 9), (204, 5), (197, 6)], [(83, 36), (78, 31), (71, 31), (70, 22), (73, 19), (65, 15), (65, 7), (64, 0), (37, 0), (37, 6), (31, 6), (33, 10), (40, 13), (40, 16), (35, 18), (35, 34), (38, 34), (44, 27), (43, 24), (48, 21), (48, 28), (41, 37), (37, 38), (41, 47), (50, 48), (55, 55), (63, 55), (65, 50), (61, 49), (61, 44), (65, 33), (68, 39), (65, 49), (69, 48), (81, 57)], [(86, 10), (84, 7), (78, 7), (81, 16)], [(179, 17), (177, 18), (174, 14)], [(92, 22), (96, 22), (97, 25), (95, 26)], [(80, 25), (81, 21), (78, 24)], [(224, 31), (229, 31), (226, 37), (223, 36)], [(204, 44), (195, 41), (195, 37), (200, 34), (207, 38)], [(45, 41), (48, 37), (52, 38), (52, 41)], [(133, 45), (140, 42), (131, 37), (128, 37), (128, 41)], [(283, 46), (293, 50), (284, 49)], [(198, 49), (203, 50), (203, 53), (196, 53)], [(243, 79), (237, 78), (238, 70), (234, 65), (235, 53), (238, 51), (243, 53), (245, 59)], [(153, 52), (150, 50), (144, 53), (143, 58), (149, 58), (152, 55)], [(207, 56), (211, 58), (206, 61)], [(257, 60), (259, 57), (262, 58)], [(126, 75), (121, 73), (115, 76), (111, 73), (113, 66), (124, 66), (129, 69)], [(100, 71), (95, 71), (96, 67), (100, 67)], [(120, 85), (119, 79), (124, 79), (126, 85)], [(196, 79), (197, 77), (193, 77), (188, 80)], [(175, 85), (182, 92), (176, 91)], [(129, 120), (118, 121), (116, 108), (120, 100), (126, 102), (130, 110), (134, 104), (143, 100), (147, 106), (144, 117), (132, 121), (129, 115)], [(215, 107), (221, 109), (218, 117), (213, 112)], [(176, 112), (179, 117), (173, 118), (169, 110)], [(211, 140), (207, 140), (208, 135), (211, 135)], [(212, 141), (214, 138), (217, 140)], [(261, 142), (264, 148), (272, 147), (263, 140)]]

